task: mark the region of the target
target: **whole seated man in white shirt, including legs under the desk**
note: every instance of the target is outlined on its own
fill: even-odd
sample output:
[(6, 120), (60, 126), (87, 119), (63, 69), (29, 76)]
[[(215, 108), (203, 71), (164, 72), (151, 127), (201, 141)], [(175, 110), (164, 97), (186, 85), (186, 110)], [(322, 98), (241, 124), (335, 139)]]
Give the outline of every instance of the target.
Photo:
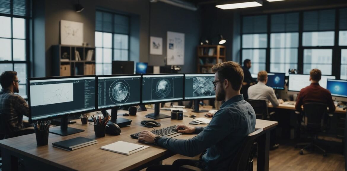
[[(269, 104), (270, 101), (273, 107), (277, 107), (280, 103), (283, 103), (283, 100), (277, 99), (273, 88), (266, 86), (267, 82), (268, 72), (260, 71), (258, 73), (258, 83), (248, 88), (248, 99), (265, 100), (266, 104)], [(275, 117), (274, 112), (271, 112), (269, 119), (276, 121)], [(270, 150), (278, 148), (279, 144), (276, 141), (276, 130), (272, 130), (270, 132)]]

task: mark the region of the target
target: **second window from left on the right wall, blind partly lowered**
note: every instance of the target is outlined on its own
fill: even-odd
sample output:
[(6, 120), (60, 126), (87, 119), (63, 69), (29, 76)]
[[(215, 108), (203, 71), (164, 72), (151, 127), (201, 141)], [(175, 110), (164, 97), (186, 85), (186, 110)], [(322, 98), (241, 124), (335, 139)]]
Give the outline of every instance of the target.
[(270, 72), (289, 74), (297, 69), (299, 13), (271, 15)]

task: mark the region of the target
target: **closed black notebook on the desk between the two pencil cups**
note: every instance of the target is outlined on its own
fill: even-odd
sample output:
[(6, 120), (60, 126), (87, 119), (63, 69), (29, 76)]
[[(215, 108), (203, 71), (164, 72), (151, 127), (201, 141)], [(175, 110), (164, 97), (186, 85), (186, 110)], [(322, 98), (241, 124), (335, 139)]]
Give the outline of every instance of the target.
[(53, 144), (53, 147), (71, 151), (74, 149), (82, 148), (82, 147), (89, 146), (96, 143), (98, 143), (98, 141), (96, 141), (95, 139), (76, 137), (76, 138), (72, 138), (72, 139), (68, 139), (64, 141), (53, 142), (52, 144)]

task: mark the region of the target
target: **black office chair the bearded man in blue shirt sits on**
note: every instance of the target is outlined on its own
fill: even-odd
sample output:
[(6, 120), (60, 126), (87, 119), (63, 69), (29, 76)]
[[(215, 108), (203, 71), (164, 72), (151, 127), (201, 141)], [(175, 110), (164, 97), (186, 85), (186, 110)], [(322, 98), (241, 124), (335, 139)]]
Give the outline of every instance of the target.
[[(230, 163), (229, 169), (230, 171), (238, 170), (238, 171), (252, 171), (253, 170), (253, 156), (252, 148), (254, 139), (263, 131), (262, 128), (257, 129), (249, 133), (247, 137), (243, 140), (240, 148), (237, 150), (237, 153), (234, 157), (234, 160)], [(190, 165), (180, 166), (179, 171), (203, 171), (201, 168), (197, 168)]]

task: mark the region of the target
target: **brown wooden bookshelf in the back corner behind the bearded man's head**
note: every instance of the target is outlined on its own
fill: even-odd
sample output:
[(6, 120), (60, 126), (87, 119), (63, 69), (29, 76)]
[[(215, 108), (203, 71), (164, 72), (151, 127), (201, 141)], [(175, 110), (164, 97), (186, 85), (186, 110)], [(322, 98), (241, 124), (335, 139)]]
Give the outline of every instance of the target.
[(212, 66), (225, 62), (225, 46), (201, 45), (197, 47), (197, 72), (212, 73)]

